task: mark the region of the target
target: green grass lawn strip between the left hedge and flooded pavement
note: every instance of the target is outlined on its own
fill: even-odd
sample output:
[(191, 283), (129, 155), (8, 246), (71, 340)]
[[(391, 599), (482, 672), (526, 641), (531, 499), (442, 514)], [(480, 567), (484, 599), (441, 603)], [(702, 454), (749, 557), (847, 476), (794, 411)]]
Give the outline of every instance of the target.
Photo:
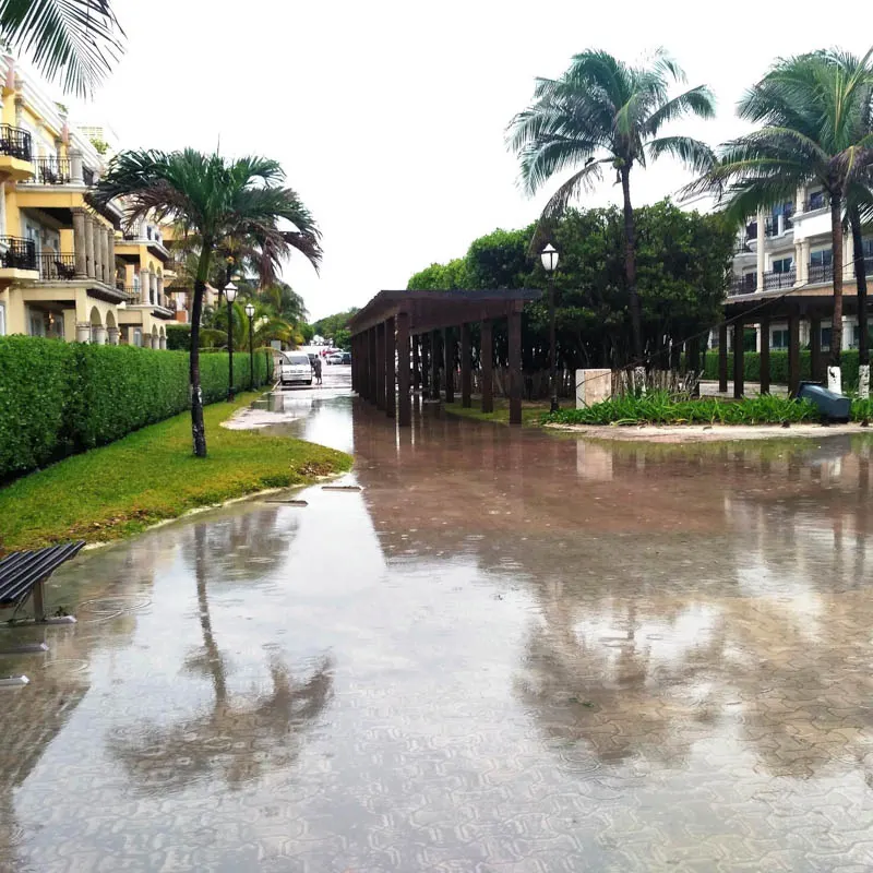
[(302, 440), (227, 430), (254, 394), (204, 409), (208, 457), (191, 454), (189, 412), (0, 489), (0, 552), (119, 539), (188, 510), (347, 470), (351, 457)]

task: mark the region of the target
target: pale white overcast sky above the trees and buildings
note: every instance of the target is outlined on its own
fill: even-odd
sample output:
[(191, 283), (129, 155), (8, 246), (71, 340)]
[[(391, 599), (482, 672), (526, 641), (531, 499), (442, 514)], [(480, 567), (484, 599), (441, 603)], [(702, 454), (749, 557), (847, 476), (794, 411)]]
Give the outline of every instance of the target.
[[(797, 7), (763, 2), (115, 0), (115, 8), (127, 53), (76, 115), (108, 122), (122, 146), (213, 150), (220, 137), (227, 155), (278, 159), (324, 235), (320, 276), (299, 256), (285, 271), (313, 319), (405, 288), (412, 273), (463, 255), (476, 237), (536, 218), (543, 199), (516, 188), (503, 132), (534, 77), (560, 74), (574, 52), (603, 48), (632, 61), (663, 46), (689, 85), (714, 88), (718, 118), (683, 131), (715, 144), (738, 131), (736, 101), (774, 57), (836, 44), (863, 52), (873, 39), (845, 14), (813, 21)], [(635, 205), (685, 180), (667, 162), (635, 176)], [(586, 202), (617, 193), (607, 180)]]

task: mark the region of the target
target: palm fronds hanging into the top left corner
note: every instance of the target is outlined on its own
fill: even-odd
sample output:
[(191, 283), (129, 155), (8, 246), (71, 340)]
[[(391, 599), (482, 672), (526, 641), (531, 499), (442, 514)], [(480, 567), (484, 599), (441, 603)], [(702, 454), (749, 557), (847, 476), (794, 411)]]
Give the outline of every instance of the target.
[(118, 60), (123, 37), (109, 0), (0, 0), (0, 38), (81, 97)]

